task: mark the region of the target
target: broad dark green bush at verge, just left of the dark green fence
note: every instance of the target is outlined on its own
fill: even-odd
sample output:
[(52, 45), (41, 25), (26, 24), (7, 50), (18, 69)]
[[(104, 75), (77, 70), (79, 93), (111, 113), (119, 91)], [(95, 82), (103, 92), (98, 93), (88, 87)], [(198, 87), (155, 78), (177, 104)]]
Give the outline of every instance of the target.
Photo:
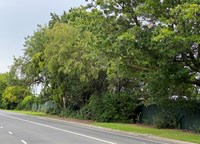
[(137, 99), (128, 93), (105, 93), (92, 96), (88, 105), (81, 109), (84, 119), (100, 122), (136, 122)]

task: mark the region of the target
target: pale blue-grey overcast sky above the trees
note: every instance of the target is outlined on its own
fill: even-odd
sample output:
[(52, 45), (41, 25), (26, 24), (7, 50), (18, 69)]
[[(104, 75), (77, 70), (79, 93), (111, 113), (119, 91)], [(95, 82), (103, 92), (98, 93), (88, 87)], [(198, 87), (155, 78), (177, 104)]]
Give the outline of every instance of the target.
[(9, 71), (13, 56), (23, 54), (24, 38), (37, 24), (47, 24), (50, 13), (61, 15), (85, 0), (0, 0), (0, 73)]

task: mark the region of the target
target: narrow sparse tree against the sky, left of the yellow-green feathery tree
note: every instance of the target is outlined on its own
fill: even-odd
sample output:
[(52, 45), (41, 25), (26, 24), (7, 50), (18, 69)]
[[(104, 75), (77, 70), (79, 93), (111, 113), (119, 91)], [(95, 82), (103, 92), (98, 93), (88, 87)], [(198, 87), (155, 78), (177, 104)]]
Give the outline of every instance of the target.
[(25, 75), (28, 85), (48, 85), (48, 70), (44, 60), (45, 44), (47, 43), (46, 29), (45, 26), (39, 25), (33, 36), (25, 39), (21, 72)]

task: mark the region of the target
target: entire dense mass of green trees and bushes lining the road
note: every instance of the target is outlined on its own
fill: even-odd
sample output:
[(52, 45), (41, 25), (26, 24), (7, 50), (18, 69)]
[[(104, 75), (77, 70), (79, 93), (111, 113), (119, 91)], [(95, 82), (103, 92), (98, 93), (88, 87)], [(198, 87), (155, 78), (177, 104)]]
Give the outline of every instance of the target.
[(0, 74), (0, 107), (199, 133), (199, 5), (88, 0), (51, 14)]

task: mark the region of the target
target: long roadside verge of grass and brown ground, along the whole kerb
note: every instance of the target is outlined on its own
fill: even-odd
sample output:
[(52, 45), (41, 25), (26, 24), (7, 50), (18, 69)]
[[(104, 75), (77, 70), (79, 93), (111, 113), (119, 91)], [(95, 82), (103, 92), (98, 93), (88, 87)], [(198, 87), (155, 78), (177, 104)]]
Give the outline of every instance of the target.
[[(48, 115), (43, 112), (31, 112), (31, 111), (19, 111), (19, 110), (12, 110), (11, 112), (33, 115), (33, 116), (42, 116), (42, 117), (49, 117), (54, 119), (61, 119), (66, 121), (73, 121), (78, 123), (84, 123), (88, 125), (93, 125), (97, 127), (104, 127), (112, 130), (117, 130), (121, 132), (130, 132), (130, 133), (138, 133), (138, 134), (148, 134), (152, 136), (158, 136), (162, 138), (186, 141), (186, 142), (194, 142), (200, 143), (200, 135), (194, 133), (192, 131), (181, 131), (181, 130), (173, 130), (173, 129), (157, 129), (152, 126), (148, 125), (137, 125), (137, 124), (124, 124), (124, 123), (99, 123), (95, 121), (82, 121), (73, 118), (63, 119), (56, 115)], [(148, 137), (147, 137), (148, 138)]]

